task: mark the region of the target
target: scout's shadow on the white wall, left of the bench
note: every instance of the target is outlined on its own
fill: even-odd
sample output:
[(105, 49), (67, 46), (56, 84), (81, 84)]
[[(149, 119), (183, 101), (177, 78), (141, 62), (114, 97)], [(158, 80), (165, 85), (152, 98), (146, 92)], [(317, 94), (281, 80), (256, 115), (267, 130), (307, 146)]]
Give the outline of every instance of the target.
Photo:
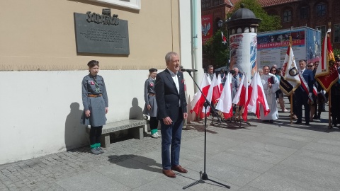
[(89, 144), (86, 125), (81, 125), (80, 118), (83, 110), (79, 110), (79, 103), (69, 105), (71, 108), (65, 122), (65, 146), (67, 150), (76, 149)]

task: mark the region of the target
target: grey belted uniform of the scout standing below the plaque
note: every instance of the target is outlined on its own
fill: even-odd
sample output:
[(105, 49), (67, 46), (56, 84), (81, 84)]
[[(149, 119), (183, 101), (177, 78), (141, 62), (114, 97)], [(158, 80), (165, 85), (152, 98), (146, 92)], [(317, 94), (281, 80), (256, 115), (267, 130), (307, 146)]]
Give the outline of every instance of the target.
[[(105, 108), (108, 107), (108, 94), (102, 76), (91, 74), (84, 77), (81, 82), (84, 112), (81, 116), (81, 124), (98, 127), (106, 124)], [(89, 95), (99, 95), (96, 98)], [(85, 116), (85, 111), (90, 110), (90, 117)]]

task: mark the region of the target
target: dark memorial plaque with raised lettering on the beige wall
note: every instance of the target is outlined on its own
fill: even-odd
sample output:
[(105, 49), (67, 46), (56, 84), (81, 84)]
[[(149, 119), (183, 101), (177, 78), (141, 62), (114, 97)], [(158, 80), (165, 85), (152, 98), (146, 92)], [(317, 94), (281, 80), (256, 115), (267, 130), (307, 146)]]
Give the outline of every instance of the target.
[(128, 21), (109, 14), (74, 13), (78, 53), (130, 54)]

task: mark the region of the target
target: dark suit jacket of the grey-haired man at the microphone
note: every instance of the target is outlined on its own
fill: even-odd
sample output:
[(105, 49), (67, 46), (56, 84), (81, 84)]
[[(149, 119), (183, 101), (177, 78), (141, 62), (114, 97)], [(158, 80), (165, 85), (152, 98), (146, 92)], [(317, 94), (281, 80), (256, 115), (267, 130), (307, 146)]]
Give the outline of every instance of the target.
[[(157, 118), (159, 120), (170, 117), (173, 122), (176, 122), (183, 119), (183, 112), (187, 112), (184, 79), (181, 71), (177, 72), (177, 76), (179, 79), (179, 92), (168, 69), (157, 74), (154, 91), (156, 92)], [(179, 100), (181, 100), (181, 106), (179, 105)], [(182, 108), (181, 113), (179, 113), (179, 107)]]

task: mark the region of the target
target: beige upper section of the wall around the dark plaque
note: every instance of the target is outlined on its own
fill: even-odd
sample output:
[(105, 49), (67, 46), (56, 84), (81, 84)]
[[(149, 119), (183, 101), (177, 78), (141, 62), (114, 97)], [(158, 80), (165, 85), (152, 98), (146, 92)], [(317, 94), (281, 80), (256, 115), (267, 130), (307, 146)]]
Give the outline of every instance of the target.
[[(142, 0), (140, 11), (98, 1), (0, 1), (0, 71), (86, 69), (164, 69), (166, 52), (179, 52), (178, 0)], [(128, 21), (130, 55), (77, 54), (74, 12), (111, 8)]]

